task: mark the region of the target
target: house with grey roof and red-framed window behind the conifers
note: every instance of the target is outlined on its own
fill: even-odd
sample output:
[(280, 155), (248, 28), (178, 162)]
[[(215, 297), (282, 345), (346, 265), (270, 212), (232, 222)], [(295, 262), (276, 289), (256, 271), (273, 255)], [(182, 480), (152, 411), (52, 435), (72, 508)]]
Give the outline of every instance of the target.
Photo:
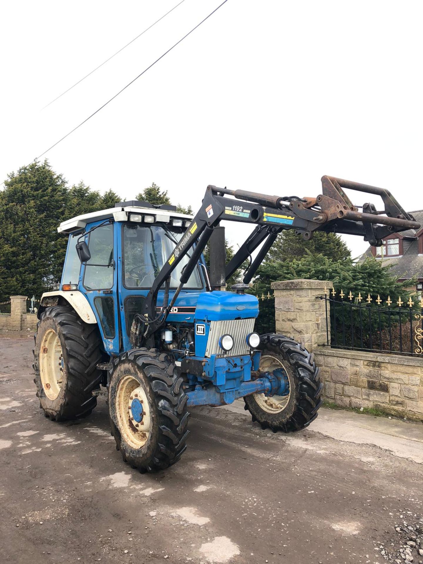
[[(423, 226), (423, 210), (409, 212), (416, 221)], [(409, 229), (402, 233), (392, 233), (383, 239), (381, 247), (371, 246), (362, 255), (360, 261), (366, 257), (383, 259), (384, 263), (392, 265), (391, 272), (398, 280), (417, 278), (416, 289), (423, 292), (423, 227), (420, 231)]]

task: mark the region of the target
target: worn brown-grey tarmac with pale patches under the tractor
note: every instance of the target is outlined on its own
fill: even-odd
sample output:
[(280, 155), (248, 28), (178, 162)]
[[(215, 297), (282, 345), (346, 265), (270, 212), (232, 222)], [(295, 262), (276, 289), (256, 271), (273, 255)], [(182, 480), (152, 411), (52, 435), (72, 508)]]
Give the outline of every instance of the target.
[(32, 347), (0, 337), (0, 564), (382, 564), (399, 523), (418, 534), (423, 425), (322, 408), (284, 435), (239, 401), (196, 408), (182, 459), (140, 474), (104, 396), (83, 420), (43, 416)]

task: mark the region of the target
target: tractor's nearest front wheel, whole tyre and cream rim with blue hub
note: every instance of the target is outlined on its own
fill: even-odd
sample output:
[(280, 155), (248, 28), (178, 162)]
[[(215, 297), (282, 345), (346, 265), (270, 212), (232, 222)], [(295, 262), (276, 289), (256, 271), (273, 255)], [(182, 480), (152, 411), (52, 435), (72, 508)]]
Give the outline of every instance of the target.
[(188, 396), (168, 355), (133, 349), (114, 360), (109, 415), (116, 448), (140, 472), (175, 464), (186, 450)]

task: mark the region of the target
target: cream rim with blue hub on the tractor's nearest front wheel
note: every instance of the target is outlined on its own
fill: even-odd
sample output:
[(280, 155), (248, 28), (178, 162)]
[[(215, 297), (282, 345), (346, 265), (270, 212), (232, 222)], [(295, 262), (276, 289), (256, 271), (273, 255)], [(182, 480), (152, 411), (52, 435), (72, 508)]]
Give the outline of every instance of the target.
[(117, 385), (116, 417), (121, 436), (130, 447), (138, 449), (147, 443), (150, 407), (146, 391), (133, 376), (124, 376)]

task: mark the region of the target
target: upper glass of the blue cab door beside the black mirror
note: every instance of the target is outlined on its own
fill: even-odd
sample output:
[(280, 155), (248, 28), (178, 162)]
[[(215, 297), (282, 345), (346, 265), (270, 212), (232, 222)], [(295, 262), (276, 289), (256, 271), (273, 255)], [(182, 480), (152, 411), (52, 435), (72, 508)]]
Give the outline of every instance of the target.
[(87, 290), (113, 287), (113, 225), (103, 225), (89, 235), (91, 258), (86, 263), (83, 285)]

